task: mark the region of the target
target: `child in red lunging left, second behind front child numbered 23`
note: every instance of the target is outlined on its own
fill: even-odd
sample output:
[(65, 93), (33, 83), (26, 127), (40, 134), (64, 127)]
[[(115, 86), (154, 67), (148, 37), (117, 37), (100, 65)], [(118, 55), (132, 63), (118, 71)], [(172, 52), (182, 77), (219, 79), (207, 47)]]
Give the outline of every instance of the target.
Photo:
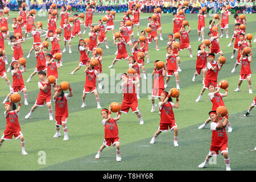
[[(215, 55), (214, 53), (209, 53), (208, 55), (209, 62), (207, 63), (207, 74), (204, 79), (204, 85), (203, 88), (201, 89), (199, 97), (197, 97), (196, 102), (199, 102), (202, 99), (202, 96), (204, 94), (204, 90), (208, 89), (208, 84), (212, 83), (214, 84), (215, 88), (217, 88), (217, 77), (218, 77), (218, 72), (222, 68), (222, 64), (220, 64), (220, 59), (215, 61)], [(220, 64), (220, 65), (219, 65)]]

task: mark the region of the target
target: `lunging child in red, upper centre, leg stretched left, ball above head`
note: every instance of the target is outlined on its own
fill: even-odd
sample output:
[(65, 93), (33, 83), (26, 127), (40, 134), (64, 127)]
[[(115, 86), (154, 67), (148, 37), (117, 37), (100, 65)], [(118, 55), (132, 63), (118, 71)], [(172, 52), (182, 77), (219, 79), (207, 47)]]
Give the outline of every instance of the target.
[(115, 64), (116, 61), (120, 61), (121, 59), (127, 60), (129, 58), (129, 55), (126, 51), (126, 46), (125, 46), (125, 39), (122, 38), (115, 38), (114, 39), (114, 45), (117, 46), (117, 56), (115, 56), (115, 59), (112, 62), (112, 65), (110, 65), (108, 68), (113, 68), (113, 65)]

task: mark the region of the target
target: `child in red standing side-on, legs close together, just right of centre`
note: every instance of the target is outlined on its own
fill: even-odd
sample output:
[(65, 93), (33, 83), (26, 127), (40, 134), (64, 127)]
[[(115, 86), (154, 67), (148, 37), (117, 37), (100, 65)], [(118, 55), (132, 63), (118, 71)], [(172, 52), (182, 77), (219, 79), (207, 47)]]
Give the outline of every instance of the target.
[(166, 76), (166, 68), (158, 69), (156, 67), (156, 63), (158, 63), (159, 60), (156, 60), (154, 63), (154, 71), (152, 72), (152, 76), (154, 76), (154, 82), (153, 82), (153, 88), (152, 88), (152, 95), (151, 95), (151, 103), (152, 103), (152, 109), (151, 113), (155, 111), (156, 104), (155, 104), (155, 97), (159, 98), (161, 93), (164, 91), (164, 77)]

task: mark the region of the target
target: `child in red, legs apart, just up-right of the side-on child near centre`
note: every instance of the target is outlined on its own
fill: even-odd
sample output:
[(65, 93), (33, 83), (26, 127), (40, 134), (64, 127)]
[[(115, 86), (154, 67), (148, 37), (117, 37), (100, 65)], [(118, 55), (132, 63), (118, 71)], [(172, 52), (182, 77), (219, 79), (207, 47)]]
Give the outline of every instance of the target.
[(172, 51), (171, 47), (167, 47), (167, 54), (166, 54), (166, 68), (167, 68), (167, 77), (166, 82), (164, 84), (164, 88), (167, 88), (168, 82), (171, 76), (175, 76), (176, 78), (176, 88), (180, 89), (180, 80), (179, 80), (179, 72), (177, 71), (177, 63), (176, 63), (176, 56), (174, 51)]

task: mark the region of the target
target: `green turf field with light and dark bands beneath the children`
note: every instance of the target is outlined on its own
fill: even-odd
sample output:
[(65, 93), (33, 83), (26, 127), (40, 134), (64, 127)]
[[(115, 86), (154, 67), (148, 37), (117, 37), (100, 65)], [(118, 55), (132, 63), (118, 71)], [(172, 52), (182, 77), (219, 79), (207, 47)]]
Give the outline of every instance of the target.
[[(93, 22), (96, 23), (105, 14), (94, 14)], [(151, 14), (141, 14), (140, 30), (144, 30), (147, 25), (147, 17)], [(11, 28), (12, 20), (18, 16), (18, 13), (10, 13), (9, 31)], [(118, 31), (119, 22), (123, 14), (116, 14), (116, 21), (114, 23), (115, 31)], [(146, 64), (146, 72), (152, 73), (154, 69), (155, 60), (166, 61), (166, 47), (168, 42), (168, 34), (172, 33), (173, 23), (172, 14), (162, 14), (162, 30), (163, 41), (159, 40), (160, 51), (155, 50), (155, 43), (149, 44), (150, 63)], [(63, 53), (63, 65), (59, 72), (58, 83), (61, 81), (68, 81), (73, 89), (74, 96), (68, 100), (69, 117), (68, 117), (68, 135), (69, 140), (63, 141), (63, 130), (61, 129), (61, 137), (53, 138), (55, 134), (55, 122), (49, 121), (48, 109), (46, 106), (39, 107), (32, 115), (32, 119), (24, 119), (25, 115), (30, 111), (32, 105), (38, 96), (38, 76), (34, 76), (31, 82), (26, 82), (27, 78), (34, 71), (36, 66), (36, 59), (34, 52), (31, 57), (27, 59), (27, 73), (23, 74), (25, 86), (28, 90), (28, 103), (23, 105), (24, 97), (22, 96), (22, 108), (19, 114), (19, 122), (26, 141), (26, 151), (28, 155), (24, 156), (20, 150), (20, 140), (6, 141), (0, 148), (0, 167), (1, 170), (225, 170), (224, 158), (218, 156), (216, 164), (209, 165), (207, 168), (199, 169), (197, 166), (204, 162), (205, 156), (209, 152), (210, 141), (212, 132), (209, 126), (206, 129), (199, 130), (198, 126), (203, 124), (205, 119), (208, 118), (208, 112), (212, 109), (212, 102), (208, 97), (208, 90), (205, 91), (203, 98), (200, 102), (195, 102), (199, 96), (202, 88), (202, 76), (196, 77), (196, 81), (192, 82), (193, 74), (196, 67), (196, 53), (197, 47), (201, 42), (197, 39), (197, 15), (187, 14), (186, 18), (192, 28), (189, 34), (189, 39), (192, 46), (193, 58), (189, 57), (188, 51), (184, 50), (180, 53), (181, 69), (179, 72), (180, 77), (180, 107), (174, 109), (175, 119), (179, 130), (178, 143), (179, 147), (174, 147), (173, 132), (162, 133), (156, 138), (155, 144), (150, 144), (150, 139), (154, 136), (155, 131), (158, 129), (160, 122), (160, 115), (158, 110), (151, 113), (151, 92), (141, 93), (141, 99), (138, 100), (139, 110), (141, 111), (144, 125), (139, 125), (139, 119), (135, 114), (131, 113), (122, 114), (121, 119), (118, 121), (119, 138), (121, 144), (122, 162), (115, 161), (115, 148), (105, 148), (99, 160), (95, 160), (98, 148), (104, 140), (104, 126), (102, 125), (102, 117), (100, 110), (97, 109), (96, 99), (94, 94), (86, 96), (86, 107), (81, 108), (82, 105), (82, 90), (84, 89), (85, 75), (84, 68), (81, 68), (75, 73), (70, 73), (79, 64), (80, 53), (78, 50), (79, 38), (72, 39), (72, 54)], [(209, 20), (205, 19), (205, 39), (208, 39), (207, 32), (209, 31)], [(42, 21), (43, 27), (47, 29), (47, 16), (36, 16), (36, 21)], [(256, 34), (256, 20), (255, 14), (246, 14), (246, 33)], [(230, 167), (232, 170), (256, 170), (256, 151), (250, 151), (256, 146), (255, 141), (255, 119), (256, 110), (252, 110), (249, 117), (243, 117), (248, 107), (251, 105), (256, 93), (256, 64), (254, 57), (256, 56), (256, 43), (252, 43), (253, 62), (251, 66), (251, 81), (253, 94), (248, 92), (248, 83), (243, 81), (241, 92), (233, 92), (237, 88), (237, 82), (240, 76), (240, 68), (238, 66), (235, 73), (231, 73), (236, 59), (230, 59), (232, 56), (233, 47), (228, 47), (230, 39), (234, 30), (233, 14), (229, 18), (229, 39), (220, 38), (220, 47), (227, 61), (218, 73), (218, 81), (225, 79), (229, 82), (228, 96), (224, 98), (225, 106), (229, 110), (230, 123), (233, 127), (233, 132), (228, 133), (229, 137), (229, 155)], [(59, 27), (60, 19), (57, 22)], [(81, 31), (84, 27), (81, 27)], [(88, 28), (89, 30), (89, 28)], [(220, 28), (219, 28), (220, 30)], [(220, 31), (219, 31), (220, 32)], [(137, 28), (134, 27), (135, 39), (138, 40)], [(13, 33), (10, 33), (13, 35)], [(32, 35), (28, 38), (32, 38)], [(42, 37), (43, 40), (44, 36)], [(82, 38), (88, 38), (88, 31), (82, 34)], [(114, 52), (117, 48), (113, 44), (112, 33), (107, 34), (109, 49), (105, 48), (105, 43), (101, 44), (104, 49), (102, 73), (109, 77), (102, 78), (102, 90), (100, 90), (100, 104), (101, 107), (108, 108), (111, 102), (122, 103), (122, 93), (110, 93), (119, 80), (119, 73), (125, 73), (128, 68), (126, 61), (122, 60), (114, 65), (114, 75), (110, 77), (111, 69), (108, 66), (112, 63), (115, 55)], [(22, 44), (24, 57), (27, 56), (28, 51), (32, 46), (32, 39), (27, 39), (26, 43)], [(253, 42), (253, 40), (252, 40)], [(61, 50), (63, 49), (63, 37), (61, 38)], [(6, 54), (9, 64), (13, 51), (10, 46), (5, 44)], [(51, 48), (51, 46), (50, 46)], [(131, 55), (130, 48), (127, 52)], [(237, 54), (237, 52), (236, 52)], [(91, 57), (92, 54), (89, 55)], [(218, 57), (218, 56), (217, 56)], [(7, 69), (7, 66), (6, 66)], [(104, 74), (102, 74), (104, 75)], [(151, 77), (148, 75), (148, 84), (151, 84)], [(9, 80), (12, 82), (11, 73), (7, 73)], [(143, 78), (142, 78), (143, 79)], [(141, 81), (142, 81), (141, 79)], [(109, 82), (107, 87), (104, 86), (105, 82)], [(111, 82), (111, 84), (110, 84)], [(146, 85), (148, 86), (148, 85)], [(168, 88), (175, 87), (175, 78), (171, 77)], [(151, 85), (148, 88), (152, 88)], [(109, 90), (109, 92), (107, 92)], [(142, 88), (141, 88), (142, 90)], [(224, 90), (221, 90), (224, 93)], [(1, 102), (9, 93), (9, 87), (5, 80), (1, 80), (0, 98)], [(53, 93), (53, 89), (52, 89)], [(53, 96), (53, 94), (52, 94)], [(175, 101), (174, 101), (175, 102)], [(156, 100), (156, 104), (158, 101)], [(52, 102), (53, 108), (55, 108)], [(54, 111), (55, 109), (53, 109)], [(6, 119), (4, 117), (4, 106), (0, 107), (0, 134), (2, 135), (6, 126)], [(114, 117), (114, 114), (113, 114)], [(41, 151), (41, 152), (40, 152)], [(46, 164), (40, 164), (40, 155), (43, 152), (46, 154)]]

